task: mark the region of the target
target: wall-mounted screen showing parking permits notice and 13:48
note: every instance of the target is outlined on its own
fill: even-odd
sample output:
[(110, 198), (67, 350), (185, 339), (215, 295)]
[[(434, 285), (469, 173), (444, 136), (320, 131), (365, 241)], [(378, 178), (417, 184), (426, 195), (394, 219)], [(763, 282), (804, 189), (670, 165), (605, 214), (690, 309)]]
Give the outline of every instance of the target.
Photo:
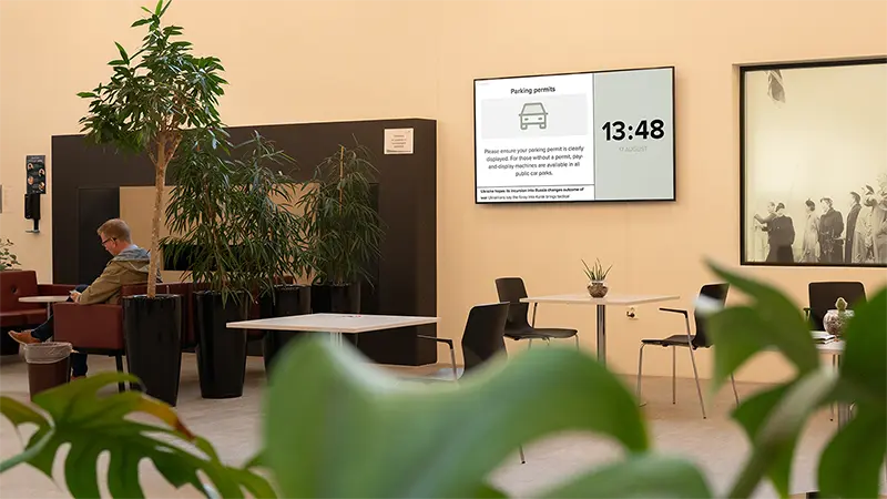
[(475, 80), (475, 202), (674, 201), (674, 68)]

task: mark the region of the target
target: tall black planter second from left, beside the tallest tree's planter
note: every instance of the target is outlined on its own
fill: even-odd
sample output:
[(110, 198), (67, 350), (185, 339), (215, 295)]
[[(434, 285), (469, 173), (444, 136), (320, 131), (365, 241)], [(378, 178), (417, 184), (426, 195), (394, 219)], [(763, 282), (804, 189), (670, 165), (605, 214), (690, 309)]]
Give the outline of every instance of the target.
[(246, 377), (246, 329), (228, 329), (227, 323), (246, 319), (246, 308), (222, 294), (194, 293), (194, 329), (197, 334), (197, 371), (203, 398), (243, 395)]

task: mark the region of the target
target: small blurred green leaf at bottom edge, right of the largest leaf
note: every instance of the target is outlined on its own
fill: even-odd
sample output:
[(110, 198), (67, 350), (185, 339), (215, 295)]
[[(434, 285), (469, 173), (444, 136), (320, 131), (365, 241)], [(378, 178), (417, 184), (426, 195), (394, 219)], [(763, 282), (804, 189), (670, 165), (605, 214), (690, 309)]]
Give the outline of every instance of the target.
[(711, 499), (712, 492), (692, 464), (660, 456), (631, 457), (542, 495), (542, 499)]

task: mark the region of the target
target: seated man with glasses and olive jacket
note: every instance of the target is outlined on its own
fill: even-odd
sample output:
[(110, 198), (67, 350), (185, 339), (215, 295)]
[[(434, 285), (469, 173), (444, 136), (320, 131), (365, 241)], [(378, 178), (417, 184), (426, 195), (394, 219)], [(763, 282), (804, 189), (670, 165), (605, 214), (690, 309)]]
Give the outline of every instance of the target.
[[(89, 286), (78, 286), (69, 302), (80, 305), (120, 303), (120, 291), (128, 284), (144, 284), (149, 274), (149, 252), (132, 243), (130, 226), (122, 220), (109, 220), (99, 227), (102, 246), (114, 257), (108, 262), (102, 275)], [(157, 276), (160, 282), (160, 276)], [(10, 332), (12, 339), (21, 343), (40, 343), (52, 337), (52, 317), (31, 332)], [(72, 354), (71, 375), (86, 376), (86, 355)]]

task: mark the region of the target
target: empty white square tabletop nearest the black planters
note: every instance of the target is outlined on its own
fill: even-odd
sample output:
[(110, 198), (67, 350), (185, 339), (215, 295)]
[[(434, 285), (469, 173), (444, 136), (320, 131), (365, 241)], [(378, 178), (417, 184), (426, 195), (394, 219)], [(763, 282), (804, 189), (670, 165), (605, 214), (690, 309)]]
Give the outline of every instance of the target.
[(234, 329), (329, 333), (333, 337), (333, 344), (341, 346), (344, 344), (343, 335), (356, 335), (375, 330), (424, 326), (426, 324), (437, 324), (438, 320), (439, 319), (437, 317), (416, 317), (404, 315), (306, 314), (255, 320), (241, 320), (236, 323), (227, 323), (226, 326)]

